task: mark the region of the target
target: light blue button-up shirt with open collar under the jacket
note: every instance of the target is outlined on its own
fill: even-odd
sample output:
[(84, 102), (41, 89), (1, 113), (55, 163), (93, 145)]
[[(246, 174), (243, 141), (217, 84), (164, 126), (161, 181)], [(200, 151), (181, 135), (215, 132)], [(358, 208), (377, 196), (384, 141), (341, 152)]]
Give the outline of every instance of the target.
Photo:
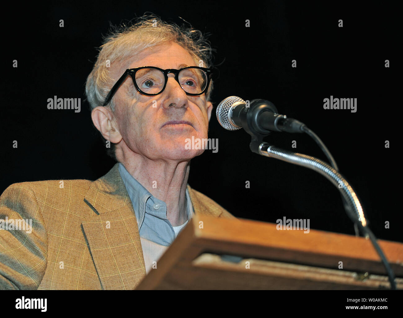
[[(119, 163), (118, 170), (133, 204), (140, 237), (160, 245), (169, 246), (188, 221), (179, 227), (172, 227), (166, 218), (166, 203), (152, 196), (145, 187), (133, 178), (123, 164)], [(187, 189), (186, 203), (187, 220), (190, 220), (194, 210)]]

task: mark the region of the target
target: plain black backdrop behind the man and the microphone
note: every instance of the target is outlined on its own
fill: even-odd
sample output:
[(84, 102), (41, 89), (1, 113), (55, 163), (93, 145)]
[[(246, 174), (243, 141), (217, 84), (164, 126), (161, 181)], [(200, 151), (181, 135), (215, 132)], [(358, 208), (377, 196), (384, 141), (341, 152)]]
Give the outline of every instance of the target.
[[(403, 241), (397, 209), (400, 162), (397, 110), (397, 9), (377, 5), (302, 2), (82, 2), (17, 3), (4, 7), (0, 125), (0, 193), (10, 184), (48, 179), (95, 180), (114, 161), (83, 102), (89, 75), (109, 23), (152, 12), (211, 33), (220, 71), (212, 102), (235, 95), (264, 98), (280, 113), (315, 131), (353, 185), (370, 227), (380, 239)], [(8, 13), (7, 13), (8, 12)], [(16, 13), (12, 13), (16, 12)], [(64, 27), (59, 27), (59, 20)], [(250, 27), (245, 27), (245, 20)], [(343, 27), (338, 27), (343, 19)], [(6, 22), (7, 21), (7, 22)], [(297, 60), (297, 68), (291, 61)], [(385, 68), (385, 60), (391, 67)], [(18, 67), (12, 67), (12, 61)], [(399, 84), (399, 89), (397, 85)], [(81, 112), (48, 110), (47, 99), (81, 98)], [(357, 112), (324, 110), (323, 99), (357, 98)], [(206, 150), (191, 162), (189, 184), (241, 218), (276, 222), (309, 218), (311, 229), (353, 234), (339, 191), (311, 170), (253, 154), (245, 131), (224, 130), (215, 116)], [(12, 148), (13, 140), (18, 148)], [(272, 133), (269, 143), (325, 160), (307, 135)], [(389, 149), (385, 140), (390, 141)], [(396, 153), (396, 152), (395, 152)], [(250, 189), (245, 188), (250, 181)], [(385, 221), (390, 229), (384, 228)]]

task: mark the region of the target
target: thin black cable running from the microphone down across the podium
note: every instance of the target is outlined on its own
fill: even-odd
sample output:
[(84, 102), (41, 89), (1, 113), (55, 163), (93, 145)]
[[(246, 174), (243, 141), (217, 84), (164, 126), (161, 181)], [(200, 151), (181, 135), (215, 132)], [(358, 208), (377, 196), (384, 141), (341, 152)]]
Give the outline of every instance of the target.
[[(328, 158), (328, 160), (330, 161), (330, 164), (332, 165), (332, 167), (334, 169), (336, 169), (337, 171), (339, 171), (339, 167), (336, 164), (336, 161), (334, 160), (332, 154), (330, 153), (330, 151), (326, 148), (325, 144), (323, 143), (323, 141), (318, 137), (318, 135), (316, 135), (316, 133), (314, 133), (311, 129), (309, 129), (308, 127), (306, 127), (305, 125), (301, 128), (307, 135), (309, 135), (312, 139), (315, 140), (315, 142), (318, 144), (318, 146), (320, 147), (320, 149), (324, 152), (324, 154), (326, 155), (326, 157)], [(343, 200), (343, 206), (347, 212), (347, 215), (352, 216), (355, 215), (352, 210), (350, 209), (350, 206), (347, 204), (345, 198), (342, 195), (342, 200)], [(355, 215), (355, 218), (357, 218), (357, 216)], [(374, 245), (374, 248), (376, 250), (376, 252), (378, 253), (379, 257), (382, 260), (383, 265), (385, 266), (386, 272), (388, 274), (388, 278), (389, 278), (389, 282), (391, 283), (391, 289), (395, 290), (396, 289), (396, 283), (395, 283), (395, 273), (393, 272), (388, 260), (386, 259), (382, 249), (380, 248), (380, 246), (378, 245), (378, 242), (376, 241), (376, 237), (374, 235), (374, 233), (372, 233), (372, 231), (370, 230), (370, 228), (367, 226), (362, 226), (361, 222), (359, 222), (359, 220), (353, 220), (354, 222), (354, 229), (355, 229), (355, 233), (357, 235), (357, 229), (356, 227), (358, 226), (359, 229), (361, 230), (361, 233), (363, 233), (363, 235), (365, 237), (369, 237), (369, 239), (372, 242), (372, 245)]]

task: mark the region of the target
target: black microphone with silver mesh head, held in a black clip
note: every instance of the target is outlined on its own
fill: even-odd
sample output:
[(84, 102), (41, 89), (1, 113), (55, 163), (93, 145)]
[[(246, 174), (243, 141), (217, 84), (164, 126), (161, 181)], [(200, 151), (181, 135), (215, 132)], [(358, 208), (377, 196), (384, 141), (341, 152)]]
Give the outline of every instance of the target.
[(277, 113), (277, 108), (268, 100), (256, 99), (246, 106), (237, 96), (222, 100), (216, 109), (217, 120), (227, 130), (244, 128), (249, 134), (268, 135), (271, 131), (303, 133), (304, 123)]

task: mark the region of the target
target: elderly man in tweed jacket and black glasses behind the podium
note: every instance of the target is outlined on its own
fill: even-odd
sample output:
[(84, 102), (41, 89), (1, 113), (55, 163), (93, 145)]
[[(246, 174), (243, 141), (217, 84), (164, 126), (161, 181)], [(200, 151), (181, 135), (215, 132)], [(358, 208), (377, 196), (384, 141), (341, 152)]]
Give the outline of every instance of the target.
[[(234, 218), (187, 184), (207, 138), (211, 49), (156, 17), (106, 38), (87, 79), (114, 167), (96, 181), (10, 185), (0, 197), (0, 289), (134, 289), (195, 214)], [(10, 227), (29, 224), (31, 230)]]

